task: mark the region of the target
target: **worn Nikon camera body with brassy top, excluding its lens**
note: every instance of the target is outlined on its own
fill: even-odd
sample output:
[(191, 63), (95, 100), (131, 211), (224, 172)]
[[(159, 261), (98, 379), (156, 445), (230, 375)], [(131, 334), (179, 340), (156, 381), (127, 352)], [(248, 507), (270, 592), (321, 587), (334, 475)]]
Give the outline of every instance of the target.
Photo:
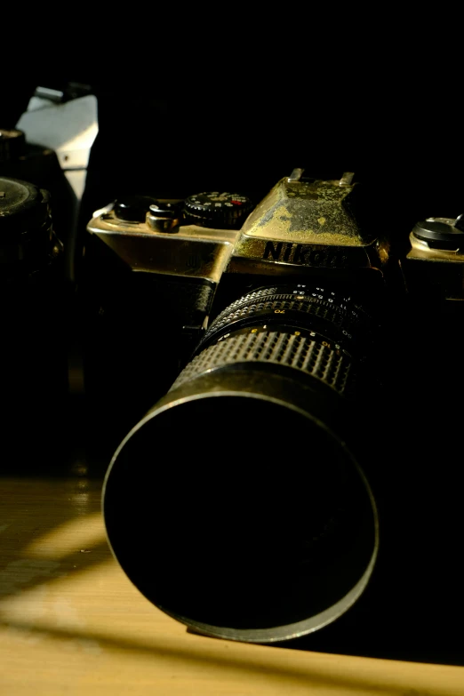
[[(351, 173), (316, 180), (295, 169), (256, 206), (212, 192), (181, 200), (129, 196), (95, 212), (82, 284), (84, 360), (98, 414), (91, 421), (99, 431), (108, 424), (107, 454), (172, 386), (206, 327), (247, 292), (287, 285), (290, 294), (308, 296), (324, 340), (337, 307), (335, 349), (352, 355), (356, 332), (367, 333), (362, 362), (373, 355), (391, 362), (368, 345), (380, 326), (377, 349), (390, 349), (392, 317), (397, 336), (430, 301), (455, 311), (460, 302), (452, 300), (463, 299), (463, 233), (448, 219), (418, 223), (411, 234), (401, 221), (392, 228), (379, 213), (382, 196)], [(273, 311), (284, 319), (289, 308)]]

